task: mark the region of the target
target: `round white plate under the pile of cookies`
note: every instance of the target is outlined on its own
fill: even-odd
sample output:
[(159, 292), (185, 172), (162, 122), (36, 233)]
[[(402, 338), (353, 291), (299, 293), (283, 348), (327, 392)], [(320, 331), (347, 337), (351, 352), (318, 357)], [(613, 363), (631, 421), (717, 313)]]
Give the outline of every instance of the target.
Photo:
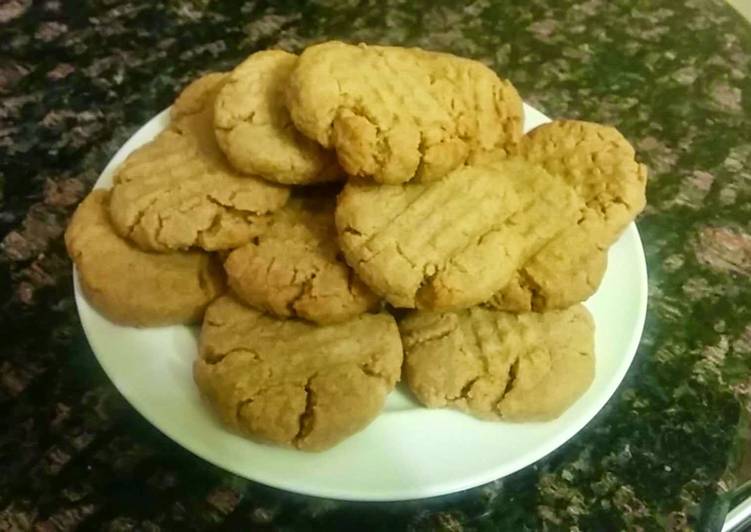
[[(526, 128), (548, 119), (526, 106)], [(117, 152), (115, 167), (168, 122), (162, 112)], [(608, 270), (587, 301), (596, 322), (596, 372), (589, 390), (545, 423), (480, 421), (427, 410), (394, 391), (365, 430), (323, 453), (257, 444), (224, 430), (193, 384), (197, 329), (121, 327), (96, 312), (75, 279), (76, 303), (91, 348), (112, 382), (146, 419), (174, 441), (243, 477), (298, 493), (360, 501), (430, 497), (472, 488), (539, 460), (571, 438), (615, 392), (636, 352), (647, 303), (647, 271), (636, 226), (610, 249)]]

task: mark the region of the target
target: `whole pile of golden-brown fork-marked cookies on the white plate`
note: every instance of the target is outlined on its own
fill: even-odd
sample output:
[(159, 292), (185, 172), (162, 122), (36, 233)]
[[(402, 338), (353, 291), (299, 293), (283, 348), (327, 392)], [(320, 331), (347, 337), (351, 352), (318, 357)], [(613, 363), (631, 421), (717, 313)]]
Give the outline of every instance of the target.
[(66, 244), (111, 320), (202, 320), (195, 382), (254, 439), (330, 447), (400, 379), (428, 407), (551, 419), (592, 381), (580, 303), (646, 171), (613, 128), (522, 122), (468, 59), (258, 52), (185, 88)]

